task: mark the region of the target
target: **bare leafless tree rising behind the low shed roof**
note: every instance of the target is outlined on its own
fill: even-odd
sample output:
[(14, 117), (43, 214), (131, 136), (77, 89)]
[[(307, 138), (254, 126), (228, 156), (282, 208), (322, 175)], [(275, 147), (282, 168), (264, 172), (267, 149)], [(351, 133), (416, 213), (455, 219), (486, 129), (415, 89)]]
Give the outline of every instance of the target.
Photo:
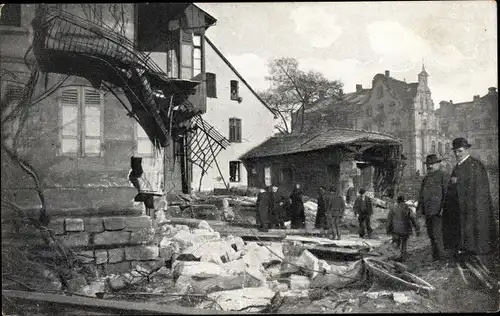
[(341, 98), (342, 83), (329, 80), (317, 71), (304, 71), (294, 58), (278, 58), (268, 64), (271, 87), (259, 93), (278, 113), (276, 128), (283, 134), (304, 130), (305, 110), (324, 93), (327, 98)]

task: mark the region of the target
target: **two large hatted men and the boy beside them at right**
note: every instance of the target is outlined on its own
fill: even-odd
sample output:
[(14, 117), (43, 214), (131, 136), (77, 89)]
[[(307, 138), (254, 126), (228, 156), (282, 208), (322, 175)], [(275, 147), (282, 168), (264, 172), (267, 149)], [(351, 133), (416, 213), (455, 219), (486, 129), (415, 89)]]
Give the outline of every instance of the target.
[[(464, 138), (453, 140), (457, 164), (451, 175), (439, 168), (441, 160), (436, 155), (426, 157), (428, 172), (420, 187), (417, 215), (425, 217), (435, 261), (449, 258), (448, 253), (460, 259), (498, 251), (498, 209), (493, 207), (486, 168), (470, 156), (470, 147)], [(400, 259), (404, 261), (411, 228), (418, 235), (419, 225), (403, 197), (390, 208), (387, 232), (401, 244)]]

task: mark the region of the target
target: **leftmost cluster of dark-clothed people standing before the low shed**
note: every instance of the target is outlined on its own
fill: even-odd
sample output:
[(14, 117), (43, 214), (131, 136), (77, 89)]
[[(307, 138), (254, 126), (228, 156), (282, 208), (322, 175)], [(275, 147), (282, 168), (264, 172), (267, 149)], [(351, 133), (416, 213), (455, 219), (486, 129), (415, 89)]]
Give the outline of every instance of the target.
[(256, 221), (260, 231), (284, 229), (285, 222), (289, 220), (292, 228), (305, 228), (306, 216), (300, 184), (295, 185), (289, 196), (279, 193), (277, 186), (270, 185), (257, 195), (256, 206)]

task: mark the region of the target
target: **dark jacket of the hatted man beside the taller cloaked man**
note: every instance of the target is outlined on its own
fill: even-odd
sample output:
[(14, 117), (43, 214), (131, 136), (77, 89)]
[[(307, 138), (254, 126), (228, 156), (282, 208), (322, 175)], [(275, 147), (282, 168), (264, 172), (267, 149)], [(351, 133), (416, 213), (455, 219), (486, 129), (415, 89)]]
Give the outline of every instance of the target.
[(424, 177), (420, 185), (417, 213), (429, 218), (441, 212), (449, 179), (449, 175), (441, 170)]

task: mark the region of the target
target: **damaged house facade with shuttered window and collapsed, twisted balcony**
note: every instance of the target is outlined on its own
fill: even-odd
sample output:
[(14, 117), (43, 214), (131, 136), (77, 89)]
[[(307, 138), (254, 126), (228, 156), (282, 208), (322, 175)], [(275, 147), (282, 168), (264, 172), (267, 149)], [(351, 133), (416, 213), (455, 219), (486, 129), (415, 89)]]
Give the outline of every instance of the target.
[[(132, 156), (142, 157), (148, 190), (187, 193), (193, 135), (216, 139), (216, 153), (228, 145), (201, 119), (203, 37), (216, 20), (195, 5), (2, 11), (2, 142), (37, 170), (51, 209), (132, 206)], [(2, 165), (2, 196), (37, 207), (32, 179), (4, 146)]]

